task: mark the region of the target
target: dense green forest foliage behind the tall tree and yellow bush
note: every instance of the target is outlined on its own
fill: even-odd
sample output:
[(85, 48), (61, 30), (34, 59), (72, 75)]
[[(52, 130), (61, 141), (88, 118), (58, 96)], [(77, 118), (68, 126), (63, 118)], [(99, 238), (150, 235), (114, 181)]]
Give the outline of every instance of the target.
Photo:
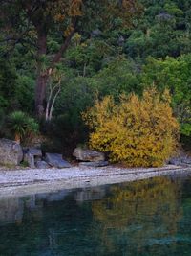
[[(41, 122), (41, 132), (50, 138), (50, 145), (57, 151), (65, 151), (66, 146), (72, 150), (76, 144), (86, 142), (88, 130), (81, 112), (94, 105), (97, 97), (112, 95), (118, 101), (119, 94), (141, 95), (153, 83), (159, 91), (170, 90), (181, 137), (184, 142), (190, 141), (191, 1), (138, 0), (139, 12), (131, 25), (118, 26), (121, 20), (116, 18), (108, 27), (101, 17), (83, 23), (88, 15), (95, 14), (91, 11), (91, 1), (86, 2), (89, 9), (81, 21), (86, 25), (79, 26), (68, 51), (56, 65), (64, 79), (53, 119), (49, 124)], [(96, 3), (95, 8), (99, 10), (101, 6)], [(1, 20), (0, 27), (4, 25)], [(24, 29), (26, 24), (21, 26)], [(48, 36), (48, 54), (38, 59), (44, 69), (62, 43), (56, 26)], [(33, 30), (15, 47), (12, 41), (9, 45), (3, 40), (4, 35), (5, 32), (0, 38), (0, 127), (13, 110), (34, 115), (36, 77)], [(2, 128), (0, 135), (5, 135)]]

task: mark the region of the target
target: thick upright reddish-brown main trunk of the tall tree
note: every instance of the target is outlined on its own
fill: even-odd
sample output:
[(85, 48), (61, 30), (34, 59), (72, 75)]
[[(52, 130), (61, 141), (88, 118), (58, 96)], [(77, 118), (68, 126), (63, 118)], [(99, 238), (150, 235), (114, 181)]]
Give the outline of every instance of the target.
[(47, 54), (47, 35), (38, 32), (37, 38), (37, 80), (35, 86), (35, 112), (38, 117), (42, 117), (45, 110), (46, 85), (48, 81), (48, 73), (42, 68), (42, 58)]

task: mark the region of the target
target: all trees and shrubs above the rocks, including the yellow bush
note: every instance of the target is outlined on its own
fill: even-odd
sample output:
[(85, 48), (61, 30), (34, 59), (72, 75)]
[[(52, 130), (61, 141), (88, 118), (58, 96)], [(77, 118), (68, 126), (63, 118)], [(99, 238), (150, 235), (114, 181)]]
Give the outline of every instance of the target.
[(129, 138), (144, 136), (137, 144), (153, 160), (131, 166), (158, 166), (175, 137), (190, 150), (191, 0), (0, 3), (0, 137), (25, 144), (41, 136), (44, 151), (67, 157), (90, 140), (118, 162), (130, 159), (123, 149), (136, 153)]

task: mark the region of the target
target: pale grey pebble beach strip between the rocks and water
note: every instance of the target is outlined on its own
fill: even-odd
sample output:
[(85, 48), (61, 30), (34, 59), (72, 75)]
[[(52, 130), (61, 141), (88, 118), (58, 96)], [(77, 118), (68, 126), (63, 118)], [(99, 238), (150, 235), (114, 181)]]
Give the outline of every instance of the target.
[(167, 165), (162, 168), (72, 167), (66, 169), (0, 170), (0, 198), (27, 196), (62, 189), (115, 184), (160, 175), (191, 175), (190, 167)]

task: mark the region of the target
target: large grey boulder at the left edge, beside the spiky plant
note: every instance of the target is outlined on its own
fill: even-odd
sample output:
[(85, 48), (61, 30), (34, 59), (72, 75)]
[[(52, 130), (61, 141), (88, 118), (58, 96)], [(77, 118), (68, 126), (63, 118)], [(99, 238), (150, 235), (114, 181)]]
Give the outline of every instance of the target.
[(0, 139), (0, 163), (3, 165), (19, 165), (23, 160), (23, 151), (15, 141)]

